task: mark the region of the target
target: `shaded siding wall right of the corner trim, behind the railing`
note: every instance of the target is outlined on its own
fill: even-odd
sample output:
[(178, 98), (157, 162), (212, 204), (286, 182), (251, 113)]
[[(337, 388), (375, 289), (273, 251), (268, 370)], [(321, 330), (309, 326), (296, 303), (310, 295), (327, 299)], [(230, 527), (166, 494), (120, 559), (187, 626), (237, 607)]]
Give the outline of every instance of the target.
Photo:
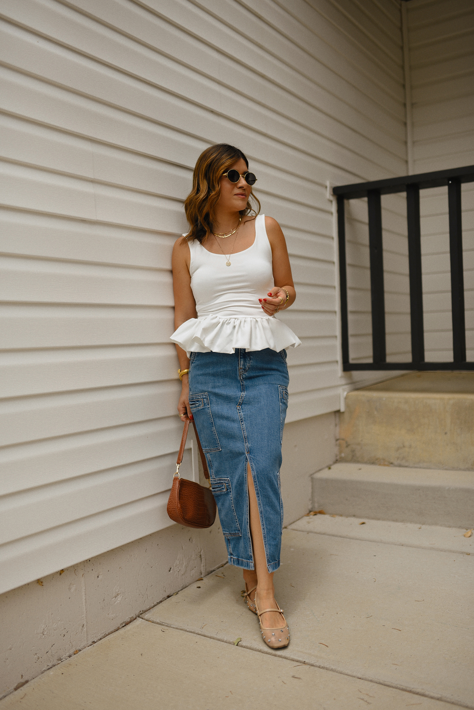
[[(474, 4), (407, 3), (414, 173), (474, 163)], [(474, 360), (474, 185), (462, 187), (467, 359)], [(453, 359), (448, 192), (421, 192), (425, 356)]]

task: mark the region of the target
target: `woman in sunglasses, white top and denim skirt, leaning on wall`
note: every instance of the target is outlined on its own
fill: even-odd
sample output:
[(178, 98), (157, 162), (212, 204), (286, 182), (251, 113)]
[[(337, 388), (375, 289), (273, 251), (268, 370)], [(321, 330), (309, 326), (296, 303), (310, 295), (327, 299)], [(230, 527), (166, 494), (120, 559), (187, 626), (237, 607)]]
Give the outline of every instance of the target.
[(182, 381), (178, 413), (196, 421), (228, 562), (243, 567), (246, 602), (258, 614), (263, 640), (282, 648), (290, 632), (273, 573), (283, 521), (285, 348), (300, 342), (275, 318), (296, 294), (282, 230), (258, 215), (255, 180), (238, 148), (220, 143), (199, 156), (184, 202), (189, 233), (172, 254), (171, 339)]

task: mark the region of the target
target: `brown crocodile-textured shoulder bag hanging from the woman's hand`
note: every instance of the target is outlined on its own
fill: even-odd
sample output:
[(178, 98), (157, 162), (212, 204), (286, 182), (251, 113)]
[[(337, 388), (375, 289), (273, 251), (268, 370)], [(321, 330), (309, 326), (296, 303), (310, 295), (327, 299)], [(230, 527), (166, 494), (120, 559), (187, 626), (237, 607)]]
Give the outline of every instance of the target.
[(166, 511), (171, 520), (174, 520), (175, 523), (180, 523), (180, 525), (187, 525), (188, 528), (210, 528), (216, 519), (216, 501), (214, 501), (214, 496), (210, 491), (210, 481), (209, 488), (204, 488), (204, 486), (200, 486), (195, 481), (180, 478), (184, 445), (186, 444), (187, 430), (191, 421), (196, 433), (197, 447), (201, 455), (204, 476), (209, 481), (209, 470), (199, 436), (197, 435), (196, 422), (187, 419), (184, 422), (180, 451), (176, 461), (176, 473), (173, 476), (173, 484)]

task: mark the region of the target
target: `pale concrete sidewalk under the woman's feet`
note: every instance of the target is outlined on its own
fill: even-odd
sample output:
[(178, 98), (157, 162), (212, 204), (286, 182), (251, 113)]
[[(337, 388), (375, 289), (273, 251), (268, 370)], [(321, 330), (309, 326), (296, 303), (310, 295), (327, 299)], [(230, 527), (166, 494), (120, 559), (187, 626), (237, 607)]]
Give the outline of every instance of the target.
[(0, 710), (472, 709), (474, 536), (464, 532), (302, 518), (284, 531), (275, 579), (287, 648), (263, 643), (241, 598), (241, 570), (226, 566), (18, 689)]

